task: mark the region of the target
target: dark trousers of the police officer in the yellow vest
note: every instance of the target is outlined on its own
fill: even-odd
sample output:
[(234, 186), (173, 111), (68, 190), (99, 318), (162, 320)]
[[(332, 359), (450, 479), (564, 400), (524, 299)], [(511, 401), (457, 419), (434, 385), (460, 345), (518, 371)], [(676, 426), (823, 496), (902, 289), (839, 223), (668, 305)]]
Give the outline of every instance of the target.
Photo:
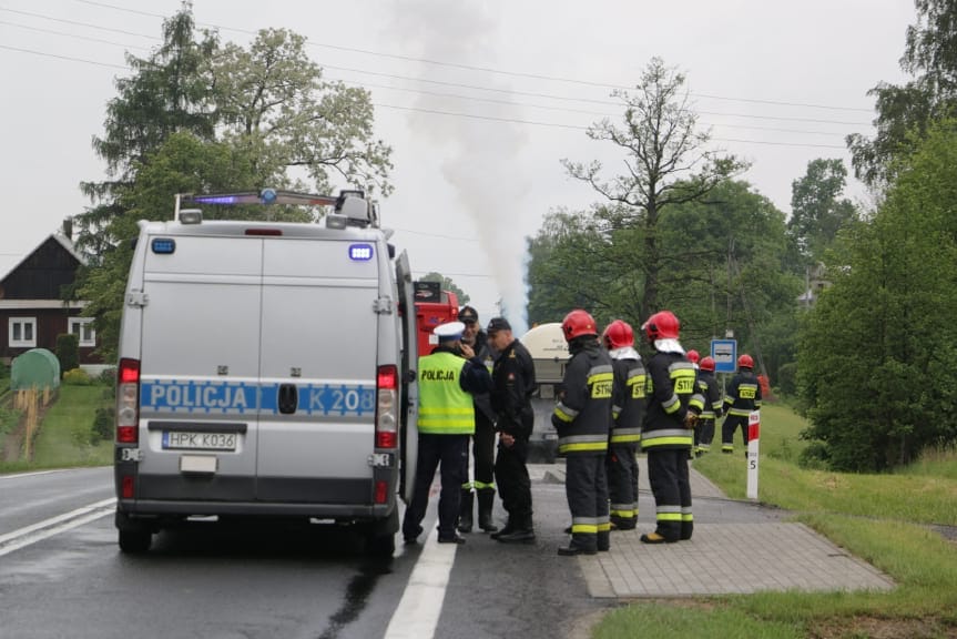
[(415, 538), (429, 505), (429, 488), (440, 466), (439, 537), (456, 535), (462, 485), (462, 459), (468, 455), (468, 435), (432, 435), (419, 433), (418, 466), (413, 500), (403, 519), (403, 535)]

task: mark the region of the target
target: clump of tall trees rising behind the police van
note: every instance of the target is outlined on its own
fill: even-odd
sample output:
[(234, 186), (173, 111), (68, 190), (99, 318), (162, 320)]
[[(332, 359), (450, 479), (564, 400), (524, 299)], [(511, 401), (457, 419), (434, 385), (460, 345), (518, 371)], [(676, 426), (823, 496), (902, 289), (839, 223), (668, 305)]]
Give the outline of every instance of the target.
[[(91, 257), (70, 293), (89, 300), (102, 352), (112, 356), (122, 310), (122, 282), (135, 221), (167, 220), (180, 192), (330, 191), (348, 183), (388, 193), (391, 150), (373, 136), (366, 91), (322, 81), (304, 40), (261, 31), (248, 50), (221, 47), (194, 29), (192, 7), (164, 23), (150, 57), (128, 55), (130, 78), (118, 81), (104, 134), (94, 139), (110, 181), (83, 184), (94, 206), (78, 216), (78, 244)], [(207, 216), (256, 219), (259, 207), (211, 209)], [(272, 219), (310, 220), (273, 207)]]

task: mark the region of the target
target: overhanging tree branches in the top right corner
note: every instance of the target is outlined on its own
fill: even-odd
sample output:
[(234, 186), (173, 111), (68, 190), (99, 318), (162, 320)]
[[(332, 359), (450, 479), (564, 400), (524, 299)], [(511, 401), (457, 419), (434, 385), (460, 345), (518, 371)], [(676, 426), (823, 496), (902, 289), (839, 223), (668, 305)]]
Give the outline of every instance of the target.
[(949, 0), (915, 0), (917, 22), (907, 28), (900, 68), (914, 77), (904, 85), (880, 82), (877, 133), (847, 136), (855, 175), (872, 186), (893, 181), (894, 159), (906, 156), (935, 120), (957, 113), (957, 6)]

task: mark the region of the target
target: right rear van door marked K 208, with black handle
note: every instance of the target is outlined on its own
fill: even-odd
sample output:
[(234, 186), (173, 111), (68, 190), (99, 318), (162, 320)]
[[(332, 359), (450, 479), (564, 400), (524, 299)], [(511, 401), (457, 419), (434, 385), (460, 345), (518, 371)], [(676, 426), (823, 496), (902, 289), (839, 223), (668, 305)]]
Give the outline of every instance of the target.
[(373, 498), (379, 262), (354, 246), (264, 240), (259, 500)]

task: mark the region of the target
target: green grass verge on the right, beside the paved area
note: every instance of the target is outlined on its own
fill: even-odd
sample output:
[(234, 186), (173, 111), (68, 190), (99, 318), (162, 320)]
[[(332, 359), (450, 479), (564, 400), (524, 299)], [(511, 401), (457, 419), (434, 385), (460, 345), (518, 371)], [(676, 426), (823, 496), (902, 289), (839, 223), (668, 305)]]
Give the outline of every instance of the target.
[[(759, 498), (893, 578), (889, 592), (761, 592), (641, 602), (610, 612), (595, 639), (957, 637), (957, 545), (928, 524), (957, 526), (957, 452), (939, 450), (887, 475), (797, 466), (804, 422), (765, 406)], [(730, 497), (744, 498), (741, 453), (695, 460)]]

